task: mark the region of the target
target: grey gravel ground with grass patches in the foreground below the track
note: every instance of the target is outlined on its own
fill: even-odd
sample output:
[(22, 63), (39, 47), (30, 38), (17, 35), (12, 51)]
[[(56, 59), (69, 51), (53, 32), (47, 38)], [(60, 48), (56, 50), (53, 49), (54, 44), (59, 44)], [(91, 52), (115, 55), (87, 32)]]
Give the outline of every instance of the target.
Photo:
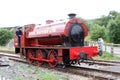
[[(0, 77), (4, 76), (7, 78), (6, 80), (92, 80), (83, 76), (59, 72), (54, 69), (30, 66), (11, 60), (7, 62), (9, 62), (10, 66), (0, 67)], [(46, 75), (49, 76), (49, 79), (45, 78)]]

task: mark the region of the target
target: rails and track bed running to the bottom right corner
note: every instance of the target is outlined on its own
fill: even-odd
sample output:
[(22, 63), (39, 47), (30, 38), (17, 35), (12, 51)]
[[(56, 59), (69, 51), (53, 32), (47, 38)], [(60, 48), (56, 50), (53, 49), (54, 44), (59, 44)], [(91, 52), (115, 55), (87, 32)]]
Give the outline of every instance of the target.
[(117, 78), (120, 78), (120, 72), (78, 66), (72, 66), (72, 68), (82, 70), (82, 72), (87, 73), (89, 76), (96, 77), (98, 79), (116, 80)]

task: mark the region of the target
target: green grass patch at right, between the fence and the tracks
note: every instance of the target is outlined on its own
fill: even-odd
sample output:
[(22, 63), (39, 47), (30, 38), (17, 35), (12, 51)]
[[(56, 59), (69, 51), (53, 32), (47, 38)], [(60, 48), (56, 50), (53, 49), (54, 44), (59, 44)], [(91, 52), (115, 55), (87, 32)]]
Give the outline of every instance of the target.
[(94, 57), (95, 60), (120, 60), (120, 55), (111, 55), (109, 52), (103, 51), (102, 56)]

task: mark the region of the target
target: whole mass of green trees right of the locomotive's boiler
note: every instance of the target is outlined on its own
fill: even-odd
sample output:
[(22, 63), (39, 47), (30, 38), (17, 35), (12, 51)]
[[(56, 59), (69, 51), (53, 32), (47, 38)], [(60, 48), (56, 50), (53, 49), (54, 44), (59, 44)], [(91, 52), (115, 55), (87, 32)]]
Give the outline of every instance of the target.
[(88, 22), (87, 25), (92, 40), (102, 37), (105, 42), (120, 43), (120, 13), (110, 11), (107, 16), (103, 15), (91, 23)]

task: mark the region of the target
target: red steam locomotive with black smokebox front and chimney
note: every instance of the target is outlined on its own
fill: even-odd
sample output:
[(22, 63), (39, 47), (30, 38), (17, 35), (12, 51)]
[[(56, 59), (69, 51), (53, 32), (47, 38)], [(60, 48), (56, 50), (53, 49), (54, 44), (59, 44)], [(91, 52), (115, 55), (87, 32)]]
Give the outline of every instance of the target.
[(45, 25), (25, 25), (20, 36), (14, 36), (15, 53), (38, 65), (48, 62), (51, 67), (57, 64), (64, 66), (80, 63), (98, 55), (97, 46), (84, 46), (84, 38), (88, 35), (82, 20), (69, 14), (69, 19), (55, 23), (48, 20)]

